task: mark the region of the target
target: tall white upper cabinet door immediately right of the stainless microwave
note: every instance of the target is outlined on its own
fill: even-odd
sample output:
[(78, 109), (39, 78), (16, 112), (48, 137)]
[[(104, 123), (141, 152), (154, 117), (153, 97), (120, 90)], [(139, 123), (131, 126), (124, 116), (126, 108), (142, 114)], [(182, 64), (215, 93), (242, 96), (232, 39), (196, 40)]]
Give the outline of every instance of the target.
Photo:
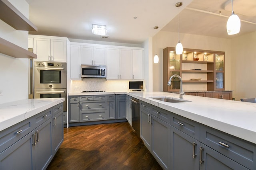
[(107, 79), (119, 79), (120, 61), (119, 61), (119, 49), (107, 48), (106, 49), (106, 76)]

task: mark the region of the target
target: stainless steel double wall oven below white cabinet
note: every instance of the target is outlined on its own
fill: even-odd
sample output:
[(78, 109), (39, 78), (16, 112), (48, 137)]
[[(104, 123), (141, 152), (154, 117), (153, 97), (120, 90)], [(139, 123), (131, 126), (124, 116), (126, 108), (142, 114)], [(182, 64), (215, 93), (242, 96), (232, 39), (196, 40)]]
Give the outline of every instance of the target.
[(34, 98), (67, 99), (67, 64), (64, 62), (34, 62)]

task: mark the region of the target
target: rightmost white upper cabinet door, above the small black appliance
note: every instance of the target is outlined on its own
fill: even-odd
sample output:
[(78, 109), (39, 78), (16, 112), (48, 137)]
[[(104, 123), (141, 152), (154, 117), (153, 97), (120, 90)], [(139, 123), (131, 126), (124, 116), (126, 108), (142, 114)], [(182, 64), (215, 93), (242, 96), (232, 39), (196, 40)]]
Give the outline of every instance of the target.
[(144, 78), (144, 63), (143, 50), (132, 50), (132, 78)]

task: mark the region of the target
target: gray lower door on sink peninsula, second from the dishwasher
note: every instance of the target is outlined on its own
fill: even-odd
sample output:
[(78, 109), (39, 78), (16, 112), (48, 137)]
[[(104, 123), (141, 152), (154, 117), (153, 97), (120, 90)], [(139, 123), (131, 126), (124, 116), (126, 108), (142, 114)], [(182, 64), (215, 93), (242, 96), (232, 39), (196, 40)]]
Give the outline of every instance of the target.
[(163, 169), (170, 169), (170, 125), (152, 115), (151, 151)]

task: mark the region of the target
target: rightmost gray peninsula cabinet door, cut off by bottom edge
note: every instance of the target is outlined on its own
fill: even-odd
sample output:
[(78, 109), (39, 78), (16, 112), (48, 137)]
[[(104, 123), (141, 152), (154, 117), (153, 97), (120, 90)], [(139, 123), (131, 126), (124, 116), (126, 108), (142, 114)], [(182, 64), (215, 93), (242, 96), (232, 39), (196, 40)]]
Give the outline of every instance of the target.
[(200, 170), (249, 170), (202, 143), (201, 146), (203, 162), (200, 164)]

